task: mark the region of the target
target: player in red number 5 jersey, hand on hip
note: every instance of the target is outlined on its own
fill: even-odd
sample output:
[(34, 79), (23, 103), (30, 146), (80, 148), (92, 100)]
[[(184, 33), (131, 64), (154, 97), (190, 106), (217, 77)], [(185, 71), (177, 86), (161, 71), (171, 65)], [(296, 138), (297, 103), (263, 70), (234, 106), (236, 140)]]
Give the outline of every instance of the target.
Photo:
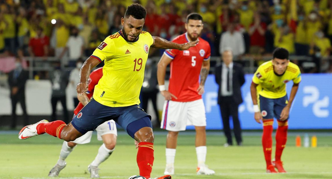
[[(200, 38), (203, 18), (198, 13), (187, 16), (186, 33), (177, 36), (173, 42), (186, 43), (200, 40), (188, 50), (168, 49), (158, 63), (158, 84), (165, 97), (161, 128), (168, 131), (166, 140), (165, 174), (174, 174), (174, 159), (179, 131), (185, 131), (187, 125), (196, 130), (197, 174), (211, 175), (214, 171), (205, 165), (206, 116), (202, 99), (204, 84), (210, 69), (210, 45)], [(170, 64), (171, 76), (168, 90), (165, 89), (166, 67)], [(199, 83), (199, 78), (201, 81)]]

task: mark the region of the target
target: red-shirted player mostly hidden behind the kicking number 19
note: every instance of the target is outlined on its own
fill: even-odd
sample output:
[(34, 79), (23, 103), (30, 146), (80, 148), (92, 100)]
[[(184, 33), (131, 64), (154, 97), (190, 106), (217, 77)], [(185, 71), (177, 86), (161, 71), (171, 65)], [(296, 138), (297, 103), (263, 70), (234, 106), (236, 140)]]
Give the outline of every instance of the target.
[[(74, 116), (79, 114), (79, 111), (89, 102), (89, 99), (93, 95), (95, 86), (98, 84), (99, 80), (103, 76), (103, 68), (98, 68), (91, 72), (88, 79), (88, 90), (86, 93), (77, 94), (77, 98), (80, 101), (74, 110)], [(100, 163), (105, 161), (114, 151), (117, 142), (117, 127), (114, 120), (109, 120), (99, 125), (96, 128), (98, 140), (103, 140), (103, 145), (98, 149), (98, 154), (96, 158), (88, 166), (88, 171), (90, 172), (91, 178), (99, 178), (98, 166)], [(62, 148), (60, 151), (60, 156), (55, 164), (55, 166), (48, 173), (48, 176), (55, 177), (58, 176), (60, 171), (66, 166), (65, 159), (74, 149), (77, 144), (87, 144), (90, 143), (92, 132), (89, 131), (83, 136), (77, 138), (75, 141), (66, 142), (63, 141)]]

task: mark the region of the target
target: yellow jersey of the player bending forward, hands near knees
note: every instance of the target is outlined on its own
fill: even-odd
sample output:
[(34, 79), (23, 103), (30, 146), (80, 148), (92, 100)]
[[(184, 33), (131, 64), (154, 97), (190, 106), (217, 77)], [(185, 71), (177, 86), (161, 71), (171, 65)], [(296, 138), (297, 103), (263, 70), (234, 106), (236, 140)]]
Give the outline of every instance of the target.
[(297, 65), (289, 62), (286, 72), (278, 76), (274, 73), (272, 60), (260, 65), (252, 77), (257, 86), (257, 93), (263, 97), (276, 99), (286, 95), (286, 83), (300, 83), (301, 72)]

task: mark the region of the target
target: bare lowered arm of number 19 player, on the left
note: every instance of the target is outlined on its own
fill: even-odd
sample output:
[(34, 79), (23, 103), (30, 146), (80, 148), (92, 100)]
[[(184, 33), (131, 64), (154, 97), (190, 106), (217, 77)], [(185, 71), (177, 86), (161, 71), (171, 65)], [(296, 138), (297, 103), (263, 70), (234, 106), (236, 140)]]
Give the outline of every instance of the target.
[(88, 79), (92, 68), (100, 63), (96, 58), (89, 57), (80, 70), (80, 83), (76, 87), (77, 93), (84, 94), (88, 89)]

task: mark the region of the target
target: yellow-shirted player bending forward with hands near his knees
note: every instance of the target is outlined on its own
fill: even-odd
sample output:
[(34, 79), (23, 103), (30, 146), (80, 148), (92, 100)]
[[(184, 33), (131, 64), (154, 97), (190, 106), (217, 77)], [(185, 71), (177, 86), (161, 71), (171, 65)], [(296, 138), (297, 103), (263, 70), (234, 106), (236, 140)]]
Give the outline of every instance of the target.
[[(286, 172), (281, 161), (281, 154), (287, 141), (290, 107), (301, 81), (300, 69), (288, 60), (288, 56), (289, 52), (285, 48), (275, 49), (273, 59), (258, 67), (250, 86), (255, 120), (258, 123), (263, 121), (262, 145), (267, 173), (277, 173), (275, 167), (280, 173)], [(288, 99), (286, 83), (291, 80), (293, 86)], [(273, 118), (278, 121), (278, 129), (275, 161), (271, 162)]]

